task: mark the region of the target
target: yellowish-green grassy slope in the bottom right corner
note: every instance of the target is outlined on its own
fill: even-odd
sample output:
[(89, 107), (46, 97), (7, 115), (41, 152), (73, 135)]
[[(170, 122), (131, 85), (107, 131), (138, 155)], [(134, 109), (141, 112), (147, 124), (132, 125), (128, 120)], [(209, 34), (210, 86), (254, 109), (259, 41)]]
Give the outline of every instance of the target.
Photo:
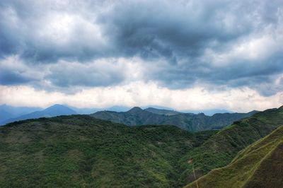
[[(283, 185), (283, 127), (238, 153), (224, 168), (197, 180), (199, 187), (278, 187)], [(197, 187), (192, 182), (187, 187)]]

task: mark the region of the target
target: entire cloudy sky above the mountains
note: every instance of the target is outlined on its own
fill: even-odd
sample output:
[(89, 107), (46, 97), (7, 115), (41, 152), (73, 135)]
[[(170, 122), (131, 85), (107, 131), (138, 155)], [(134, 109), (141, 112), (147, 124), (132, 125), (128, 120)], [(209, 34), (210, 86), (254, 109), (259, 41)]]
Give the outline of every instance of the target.
[(283, 105), (283, 1), (0, 1), (0, 105)]

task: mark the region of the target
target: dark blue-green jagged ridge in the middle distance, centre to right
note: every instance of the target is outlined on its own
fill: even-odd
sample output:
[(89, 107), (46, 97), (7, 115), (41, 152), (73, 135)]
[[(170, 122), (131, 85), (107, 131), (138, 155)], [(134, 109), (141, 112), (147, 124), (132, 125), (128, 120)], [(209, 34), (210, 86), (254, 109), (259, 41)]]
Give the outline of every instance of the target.
[(204, 131), (221, 129), (227, 125), (245, 117), (250, 117), (256, 111), (248, 113), (225, 113), (207, 116), (203, 113), (181, 113), (171, 110), (158, 110), (155, 108), (134, 107), (127, 112), (100, 111), (91, 114), (91, 117), (110, 120), (129, 126), (144, 124), (173, 124), (188, 131)]

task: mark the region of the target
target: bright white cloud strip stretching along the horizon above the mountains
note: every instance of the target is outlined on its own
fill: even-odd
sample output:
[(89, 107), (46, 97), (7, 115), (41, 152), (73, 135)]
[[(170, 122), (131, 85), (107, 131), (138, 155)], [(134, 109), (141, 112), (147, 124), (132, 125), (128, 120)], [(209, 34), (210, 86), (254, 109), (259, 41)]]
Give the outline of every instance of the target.
[(283, 103), (283, 92), (261, 96), (250, 88), (206, 88), (170, 90), (156, 83), (132, 82), (125, 86), (84, 89), (74, 94), (35, 90), (29, 86), (0, 86), (0, 103), (15, 106), (47, 107), (55, 103), (75, 107), (110, 107), (112, 105), (159, 105), (175, 110), (227, 109), (235, 112), (265, 110)]

